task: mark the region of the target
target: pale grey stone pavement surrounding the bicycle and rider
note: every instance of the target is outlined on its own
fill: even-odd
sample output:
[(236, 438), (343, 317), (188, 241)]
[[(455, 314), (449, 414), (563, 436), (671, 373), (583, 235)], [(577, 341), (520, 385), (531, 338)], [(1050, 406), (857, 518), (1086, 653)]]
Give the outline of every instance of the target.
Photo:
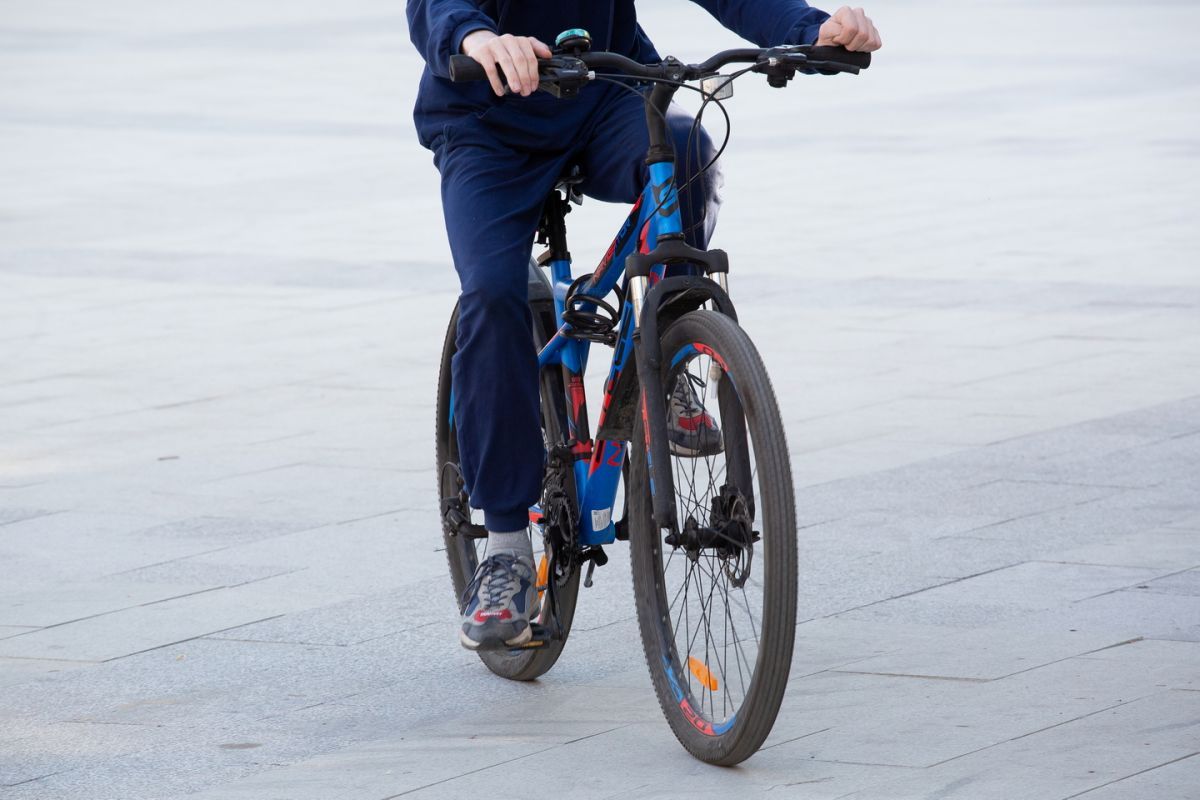
[(803, 621), (721, 770), (660, 718), (624, 548), (542, 680), (457, 645), (400, 6), (0, 16), (0, 796), (1200, 795), (1200, 10), (881, 2), (870, 72), (739, 84), (716, 243)]

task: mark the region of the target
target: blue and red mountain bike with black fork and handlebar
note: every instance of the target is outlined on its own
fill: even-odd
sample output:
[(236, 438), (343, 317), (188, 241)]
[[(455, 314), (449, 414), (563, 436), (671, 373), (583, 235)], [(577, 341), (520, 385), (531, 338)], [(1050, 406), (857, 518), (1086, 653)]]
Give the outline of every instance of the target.
[[(648, 92), (630, 86), (647, 104), (649, 180), (599, 266), (574, 279), (565, 216), (582, 201), (575, 188), (582, 178), (564, 175), (546, 199), (536, 236), (546, 251), (529, 265), (546, 444), (542, 495), (529, 513), (541, 610), (528, 644), (479, 656), (514, 680), (548, 670), (570, 633), (581, 572), (590, 585), (607, 561), (604, 546), (629, 541), (638, 628), (664, 715), (692, 756), (732, 765), (758, 750), (784, 698), (796, 628), (796, 504), (775, 396), (730, 300), (728, 258), (684, 241), (666, 110), (680, 88), (695, 89), (689, 82), (702, 82), (702, 114), (709, 103), (720, 107), (744, 74), (782, 88), (797, 71), (858, 73), (870, 55), (788, 46), (725, 50), (698, 65), (673, 58), (642, 65), (589, 46), (586, 31), (562, 34), (554, 55), (539, 61), (540, 89), (570, 97), (594, 80), (649, 83)], [(749, 66), (720, 76), (730, 64)], [(452, 80), (485, 78), (473, 59), (451, 58)], [(668, 265), (688, 265), (689, 273), (667, 277)], [(613, 293), (616, 306), (606, 300)], [(457, 308), (443, 345), (436, 435), (443, 535), (461, 609), (486, 531), (472, 522), (457, 469), (456, 326)], [(583, 374), (594, 343), (612, 347), (613, 356), (593, 439)], [(715, 398), (706, 410), (719, 420), (720, 452), (672, 452), (668, 387), (679, 380)], [(614, 519), (622, 486), (624, 515)]]

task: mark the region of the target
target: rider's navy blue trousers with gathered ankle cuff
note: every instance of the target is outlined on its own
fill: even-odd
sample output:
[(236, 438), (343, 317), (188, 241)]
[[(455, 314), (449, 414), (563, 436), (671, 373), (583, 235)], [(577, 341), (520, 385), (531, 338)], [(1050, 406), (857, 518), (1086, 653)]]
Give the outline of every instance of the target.
[[(446, 126), (433, 145), (462, 285), (452, 362), (460, 465), (488, 530), (523, 529), (541, 494), (545, 449), (527, 281), (542, 204), (571, 164), (587, 176), (581, 191), (598, 200), (634, 203), (646, 184), (644, 103), (614, 86), (588, 91), (596, 91), (590, 101), (509, 97)], [(691, 118), (673, 113), (668, 120), (682, 186), (712, 158), (713, 144), (697, 131), (689, 156)], [(714, 167), (680, 197), (684, 228), (697, 247), (715, 222), (719, 186)]]

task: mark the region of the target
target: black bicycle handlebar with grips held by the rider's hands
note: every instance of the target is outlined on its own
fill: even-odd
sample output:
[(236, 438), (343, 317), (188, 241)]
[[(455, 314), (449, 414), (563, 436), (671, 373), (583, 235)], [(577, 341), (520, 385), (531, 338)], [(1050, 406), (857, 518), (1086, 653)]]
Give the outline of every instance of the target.
[[(619, 72), (630, 78), (652, 82), (679, 83), (714, 76), (718, 70), (728, 64), (752, 64), (751, 71), (764, 73), (770, 85), (784, 86), (797, 70), (812, 70), (823, 74), (839, 72), (858, 74), (860, 70), (871, 65), (871, 54), (856, 53), (844, 47), (792, 44), (724, 50), (707, 61), (689, 65), (674, 59), (667, 59), (660, 64), (638, 64), (619, 53), (595, 52), (538, 59), (538, 72), (541, 76), (542, 89), (570, 84), (577, 91), (578, 86), (595, 79), (596, 71)], [(463, 83), (486, 79), (487, 73), (484, 71), (484, 65), (469, 55), (450, 56), (450, 80)], [(564, 91), (562, 94), (575, 92)]]

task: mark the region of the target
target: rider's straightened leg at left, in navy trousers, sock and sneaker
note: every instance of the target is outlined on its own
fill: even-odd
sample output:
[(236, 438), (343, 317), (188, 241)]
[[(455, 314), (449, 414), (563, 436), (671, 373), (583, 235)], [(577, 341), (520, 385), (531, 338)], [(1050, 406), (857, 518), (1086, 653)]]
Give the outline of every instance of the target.
[(439, 150), (437, 163), (462, 287), (451, 365), (460, 467), (488, 531), (461, 640), (468, 648), (521, 644), (536, 601), (526, 529), (544, 465), (528, 265), (560, 163), (474, 144)]

